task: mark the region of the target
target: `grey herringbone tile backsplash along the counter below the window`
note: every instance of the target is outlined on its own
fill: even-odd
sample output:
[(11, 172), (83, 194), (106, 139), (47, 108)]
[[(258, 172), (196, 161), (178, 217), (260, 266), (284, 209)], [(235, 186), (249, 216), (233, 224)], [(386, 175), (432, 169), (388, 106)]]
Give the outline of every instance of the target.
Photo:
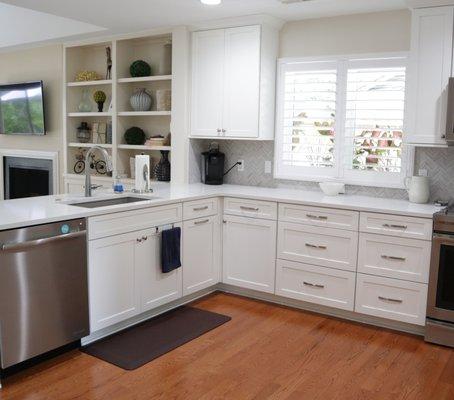
[[(200, 153), (208, 149), (211, 140), (192, 139), (190, 146), (190, 182), (200, 182)], [(286, 181), (265, 174), (265, 161), (273, 162), (274, 142), (244, 140), (221, 140), (220, 149), (226, 155), (226, 169), (237, 160), (244, 160), (244, 172), (234, 168), (226, 177), (225, 183), (263, 187), (289, 187), (319, 190), (314, 182)], [(415, 157), (415, 173), (419, 169), (429, 172), (431, 199), (447, 200), (454, 198), (454, 148), (418, 148)], [(347, 186), (347, 193), (374, 197), (407, 199), (407, 192), (401, 189), (383, 189), (364, 186)]]

